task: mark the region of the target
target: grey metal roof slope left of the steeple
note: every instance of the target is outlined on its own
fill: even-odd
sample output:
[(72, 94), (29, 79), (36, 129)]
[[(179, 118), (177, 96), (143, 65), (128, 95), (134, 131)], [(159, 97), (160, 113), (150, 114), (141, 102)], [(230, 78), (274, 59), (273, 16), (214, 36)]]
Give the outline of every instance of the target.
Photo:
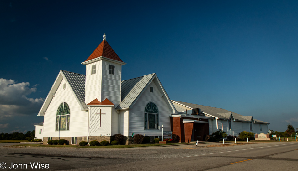
[(71, 86), (72, 90), (76, 94), (78, 100), (82, 104), (83, 108), (88, 109), (85, 103), (85, 82), (86, 76), (83, 74), (77, 74), (74, 72), (69, 72), (65, 70), (61, 70), (63, 75), (65, 76), (67, 82)]

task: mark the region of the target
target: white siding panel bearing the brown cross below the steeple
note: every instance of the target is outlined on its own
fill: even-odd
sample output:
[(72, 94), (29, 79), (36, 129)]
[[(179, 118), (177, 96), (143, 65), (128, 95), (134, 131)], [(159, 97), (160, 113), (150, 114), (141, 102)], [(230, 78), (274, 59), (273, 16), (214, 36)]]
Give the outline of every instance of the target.
[[(96, 113), (105, 113), (101, 115), (97, 115)], [(112, 123), (112, 107), (93, 107), (90, 109), (90, 136), (100, 136), (111, 134), (111, 123)], [(101, 123), (100, 123), (101, 122)], [(100, 127), (101, 124), (101, 127)], [(109, 135), (107, 135), (109, 136)], [(111, 135), (112, 136), (112, 135)]]

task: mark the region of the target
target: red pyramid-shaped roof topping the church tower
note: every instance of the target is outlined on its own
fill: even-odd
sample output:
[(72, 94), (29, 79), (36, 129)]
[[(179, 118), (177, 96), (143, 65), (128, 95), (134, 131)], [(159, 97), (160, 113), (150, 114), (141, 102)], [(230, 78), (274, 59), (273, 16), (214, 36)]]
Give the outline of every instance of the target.
[(93, 53), (89, 56), (87, 60), (93, 60), (95, 58), (98, 58), (100, 56), (112, 59), (112, 60), (118, 60), (120, 62), (123, 62), (119, 56), (116, 54), (116, 52), (112, 49), (112, 47), (108, 44), (106, 40), (103, 40), (98, 47), (93, 51)]

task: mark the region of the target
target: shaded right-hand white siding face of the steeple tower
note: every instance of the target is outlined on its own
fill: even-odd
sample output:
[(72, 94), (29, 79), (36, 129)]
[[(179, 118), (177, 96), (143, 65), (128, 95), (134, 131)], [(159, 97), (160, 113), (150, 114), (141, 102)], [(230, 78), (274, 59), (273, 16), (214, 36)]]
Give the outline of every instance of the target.
[[(115, 75), (109, 74), (109, 65), (115, 66)], [(108, 98), (117, 107), (121, 102), (121, 65), (103, 60), (101, 81), (101, 101)]]

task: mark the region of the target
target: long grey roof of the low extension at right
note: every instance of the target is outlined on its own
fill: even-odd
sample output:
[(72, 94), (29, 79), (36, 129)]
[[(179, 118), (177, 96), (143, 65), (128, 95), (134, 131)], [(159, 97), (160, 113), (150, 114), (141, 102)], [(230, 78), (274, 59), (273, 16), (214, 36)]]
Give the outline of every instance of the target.
[[(201, 109), (201, 112), (204, 112), (204, 113), (207, 113), (207, 114), (210, 114), (214, 117), (218, 117), (220, 119), (229, 119), (229, 118), (226, 118), (226, 114), (227, 113), (232, 113), (233, 117), (236, 119), (236, 121), (249, 121), (248, 116), (243, 116), (243, 115), (240, 115), (238, 113), (234, 113), (234, 112), (231, 112), (231, 111), (228, 111), (226, 109), (222, 109), (222, 108), (217, 108), (217, 107), (210, 107), (210, 106), (203, 106), (203, 105), (197, 105), (197, 104), (193, 104), (193, 103), (187, 103), (187, 102), (182, 102), (182, 101), (175, 101), (175, 100), (172, 100), (174, 102), (177, 102), (177, 103), (180, 103), (184, 106), (188, 106), (190, 108), (200, 108)], [(244, 118), (243, 118), (244, 117)], [(255, 122), (259, 122), (259, 123), (267, 123), (269, 124), (268, 122), (263, 122), (263, 121), (260, 121), (260, 120), (256, 120), (254, 119)]]

